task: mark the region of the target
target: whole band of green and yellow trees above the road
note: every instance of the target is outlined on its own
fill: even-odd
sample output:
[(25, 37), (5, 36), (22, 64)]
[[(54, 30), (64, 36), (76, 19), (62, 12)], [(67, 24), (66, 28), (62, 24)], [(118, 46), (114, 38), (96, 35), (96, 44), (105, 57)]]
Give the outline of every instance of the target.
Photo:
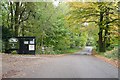
[(8, 37), (35, 36), (37, 53), (49, 54), (86, 45), (103, 52), (117, 44), (117, 3), (1, 1), (0, 5), (3, 42)]

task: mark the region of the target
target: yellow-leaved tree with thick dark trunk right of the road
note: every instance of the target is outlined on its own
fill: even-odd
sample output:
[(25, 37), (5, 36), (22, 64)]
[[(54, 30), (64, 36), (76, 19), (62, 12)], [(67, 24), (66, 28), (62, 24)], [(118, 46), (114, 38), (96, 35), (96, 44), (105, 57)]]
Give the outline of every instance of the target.
[[(96, 2), (96, 3), (69, 3), (71, 7), (68, 19), (76, 23), (94, 22), (99, 26), (98, 45), (99, 51), (106, 51), (109, 27), (115, 25), (118, 21), (117, 4), (113, 2)], [(114, 23), (113, 23), (114, 22)]]

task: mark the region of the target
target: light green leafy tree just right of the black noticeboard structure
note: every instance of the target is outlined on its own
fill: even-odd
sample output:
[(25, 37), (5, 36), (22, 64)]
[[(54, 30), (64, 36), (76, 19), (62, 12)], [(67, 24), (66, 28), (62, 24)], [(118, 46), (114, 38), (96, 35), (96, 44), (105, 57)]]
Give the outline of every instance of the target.
[[(64, 10), (67, 9), (65, 4), (59, 4), (56, 7), (52, 2), (39, 2), (34, 5), (35, 13), (28, 19), (27, 26), (29, 28), (26, 28), (25, 36), (36, 36), (37, 49), (40, 50), (42, 47), (53, 47), (54, 50), (65, 49), (69, 42), (65, 39), (68, 32), (64, 20), (66, 14)], [(64, 9), (62, 9), (63, 7)]]

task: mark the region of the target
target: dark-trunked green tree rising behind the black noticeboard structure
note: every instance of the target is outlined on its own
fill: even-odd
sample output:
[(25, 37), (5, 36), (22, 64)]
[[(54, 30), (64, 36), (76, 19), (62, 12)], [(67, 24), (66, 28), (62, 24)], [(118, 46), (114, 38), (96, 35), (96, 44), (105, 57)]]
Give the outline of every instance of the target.
[[(12, 31), (13, 36), (20, 36), (21, 24), (28, 20), (33, 12), (34, 5), (29, 2), (3, 2), (3, 26), (8, 27)], [(6, 15), (6, 14), (7, 15)], [(6, 25), (7, 23), (7, 25)], [(24, 31), (24, 30), (23, 30)]]

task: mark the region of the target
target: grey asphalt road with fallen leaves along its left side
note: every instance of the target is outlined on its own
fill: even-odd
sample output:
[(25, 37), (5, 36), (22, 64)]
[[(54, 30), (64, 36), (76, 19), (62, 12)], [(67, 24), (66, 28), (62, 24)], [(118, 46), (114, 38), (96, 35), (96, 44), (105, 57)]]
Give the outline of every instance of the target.
[[(9, 68), (4, 63), (4, 77), (9, 78), (118, 78), (118, 69), (84, 51), (57, 57), (26, 56), (23, 63)], [(88, 52), (88, 49), (86, 50)], [(19, 58), (19, 57), (16, 57)], [(20, 61), (20, 60), (18, 60)], [(12, 65), (11, 65), (12, 66)], [(14, 69), (10, 72), (10, 69)], [(15, 74), (13, 74), (15, 73)]]

